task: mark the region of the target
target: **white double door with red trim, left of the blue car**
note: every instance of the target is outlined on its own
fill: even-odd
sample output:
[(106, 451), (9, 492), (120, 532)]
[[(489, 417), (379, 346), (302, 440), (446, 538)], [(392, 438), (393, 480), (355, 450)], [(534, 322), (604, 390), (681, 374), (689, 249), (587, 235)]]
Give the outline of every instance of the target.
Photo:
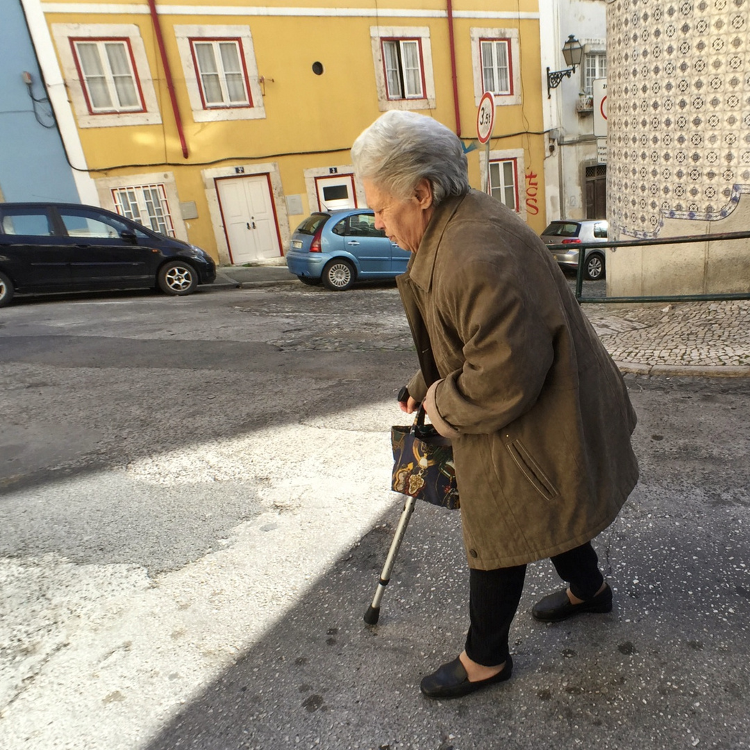
[(223, 178), (216, 185), (232, 263), (281, 256), (268, 175)]

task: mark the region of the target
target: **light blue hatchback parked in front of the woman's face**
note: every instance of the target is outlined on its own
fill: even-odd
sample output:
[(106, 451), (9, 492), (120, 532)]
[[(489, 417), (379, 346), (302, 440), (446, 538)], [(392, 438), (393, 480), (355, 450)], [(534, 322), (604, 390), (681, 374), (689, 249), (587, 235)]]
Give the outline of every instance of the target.
[(311, 214), (294, 230), (287, 268), (304, 284), (344, 292), (355, 281), (403, 274), (410, 257), (375, 229), (370, 208), (344, 208)]

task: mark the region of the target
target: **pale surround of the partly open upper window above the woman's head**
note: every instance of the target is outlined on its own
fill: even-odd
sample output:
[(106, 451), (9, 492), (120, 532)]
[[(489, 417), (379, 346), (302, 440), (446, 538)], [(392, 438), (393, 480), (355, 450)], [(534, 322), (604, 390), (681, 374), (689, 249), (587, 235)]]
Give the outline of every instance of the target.
[[(432, 69), (432, 47), (428, 26), (371, 26), (370, 40), (373, 52), (375, 86), (380, 112), (388, 110), (433, 110), (436, 106), (435, 80)], [(386, 76), (386, 61), (383, 42), (416, 42), (420, 54), (422, 92), (421, 95), (401, 92), (399, 98), (391, 98)], [(401, 49), (401, 46), (400, 46)], [(402, 55), (403, 60), (403, 55)], [(403, 73), (403, 68), (401, 69)], [(403, 80), (403, 77), (402, 77)]]

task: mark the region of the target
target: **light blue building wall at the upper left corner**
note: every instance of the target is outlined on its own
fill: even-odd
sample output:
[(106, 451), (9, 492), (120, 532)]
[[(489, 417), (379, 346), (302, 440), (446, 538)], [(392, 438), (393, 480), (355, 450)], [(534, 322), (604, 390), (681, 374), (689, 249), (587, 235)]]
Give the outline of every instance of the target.
[[(20, 0), (2, 0), (0, 22), (0, 191), (7, 201), (80, 202), (46, 101)], [(34, 104), (23, 83), (31, 74)], [(34, 110), (36, 116), (34, 115)], [(44, 125), (43, 127), (37, 116)]]

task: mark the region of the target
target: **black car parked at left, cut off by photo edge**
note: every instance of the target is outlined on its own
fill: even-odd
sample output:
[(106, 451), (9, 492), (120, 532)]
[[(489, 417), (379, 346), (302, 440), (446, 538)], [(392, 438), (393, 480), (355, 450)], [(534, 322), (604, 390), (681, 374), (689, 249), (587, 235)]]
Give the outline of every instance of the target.
[(104, 208), (0, 203), (0, 308), (16, 292), (151, 287), (182, 296), (215, 278), (205, 251)]

